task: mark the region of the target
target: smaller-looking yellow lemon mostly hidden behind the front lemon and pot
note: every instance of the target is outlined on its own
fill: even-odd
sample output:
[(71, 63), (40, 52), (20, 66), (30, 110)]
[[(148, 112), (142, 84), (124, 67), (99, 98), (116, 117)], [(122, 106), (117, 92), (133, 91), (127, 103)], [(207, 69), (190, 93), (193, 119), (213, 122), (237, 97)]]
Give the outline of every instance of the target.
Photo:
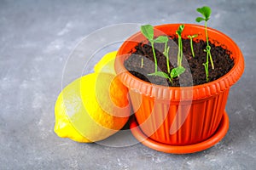
[(105, 54), (102, 59), (94, 66), (95, 72), (107, 72), (110, 74), (115, 74), (114, 71), (114, 59), (116, 57), (117, 51)]

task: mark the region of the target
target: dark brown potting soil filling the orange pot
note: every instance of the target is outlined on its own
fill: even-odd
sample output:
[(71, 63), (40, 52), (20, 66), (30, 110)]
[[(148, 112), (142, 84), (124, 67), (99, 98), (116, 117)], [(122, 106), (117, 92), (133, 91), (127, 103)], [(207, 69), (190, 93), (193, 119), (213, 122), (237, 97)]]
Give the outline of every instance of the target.
[[(169, 59), (170, 70), (177, 67), (177, 37), (169, 37), (168, 46), (170, 46)], [(172, 41), (173, 40), (173, 41)], [(186, 71), (179, 77), (176, 77), (170, 82), (168, 79), (158, 76), (148, 76), (150, 73), (154, 73), (154, 55), (152, 47), (149, 42), (140, 42), (137, 44), (134, 50), (131, 51), (131, 55), (125, 60), (125, 68), (131, 72), (132, 75), (138, 77), (146, 82), (151, 82), (163, 86), (172, 87), (188, 87), (192, 85), (199, 85), (207, 83), (206, 71), (203, 63), (207, 60), (207, 53), (204, 49), (207, 47), (207, 42), (193, 41), (193, 47), (195, 52), (195, 58), (191, 53), (190, 40), (183, 39), (183, 67)], [(218, 44), (218, 42), (216, 43)], [(209, 42), (211, 46), (211, 54), (214, 65), (212, 65), (209, 59), (209, 82), (212, 82), (219, 77), (223, 77), (234, 66), (234, 60), (231, 58), (231, 53), (224, 45), (215, 45)], [(154, 50), (156, 59), (158, 62), (158, 71), (164, 71), (167, 73), (166, 57), (163, 54), (165, 43), (154, 42)], [(142, 62), (143, 59), (143, 62)]]

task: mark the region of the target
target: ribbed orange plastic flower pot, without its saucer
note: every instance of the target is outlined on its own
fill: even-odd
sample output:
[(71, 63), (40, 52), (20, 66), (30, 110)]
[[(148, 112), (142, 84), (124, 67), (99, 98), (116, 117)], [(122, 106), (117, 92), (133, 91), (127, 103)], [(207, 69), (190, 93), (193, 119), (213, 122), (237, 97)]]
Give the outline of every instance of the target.
[[(179, 25), (154, 26), (155, 36), (174, 35)], [(203, 26), (185, 24), (183, 35), (194, 34), (199, 35), (198, 40), (206, 39)], [(224, 77), (193, 87), (155, 85), (134, 77), (125, 69), (124, 61), (137, 43), (147, 41), (140, 32), (129, 37), (119, 48), (115, 71), (129, 88), (137, 122), (148, 138), (162, 144), (188, 145), (200, 143), (216, 133), (224, 116), (230, 87), (244, 70), (244, 59), (236, 43), (224, 33), (208, 28), (208, 36), (212, 43), (230, 50), (235, 65)]]

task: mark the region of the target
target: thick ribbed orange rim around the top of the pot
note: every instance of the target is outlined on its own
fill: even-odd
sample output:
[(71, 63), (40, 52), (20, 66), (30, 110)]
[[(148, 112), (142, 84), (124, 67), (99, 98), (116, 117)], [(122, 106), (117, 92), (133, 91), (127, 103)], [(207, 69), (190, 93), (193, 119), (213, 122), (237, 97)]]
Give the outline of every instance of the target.
[[(179, 26), (180, 24), (166, 24), (160, 26), (154, 26), (154, 29), (163, 31), (166, 28)], [(184, 24), (185, 28), (188, 30), (200, 30), (204, 31), (204, 26), (193, 25), (193, 24)], [(210, 37), (213, 40), (217, 40), (218, 42), (227, 46), (227, 48), (231, 52), (231, 57), (234, 59), (235, 65), (233, 68), (225, 74), (223, 77), (218, 78), (215, 81), (207, 82), (205, 84), (196, 85), (192, 87), (166, 87), (161, 85), (152, 84), (150, 82), (145, 82), (135, 76), (133, 76), (129, 71), (125, 69), (124, 64), (124, 55), (125, 49), (127, 46), (131, 45), (131, 42), (146, 40), (145, 37), (140, 32), (129, 37), (125, 42), (121, 45), (118, 50), (117, 57), (115, 59), (115, 71), (119, 76), (121, 82), (125, 84), (127, 88), (131, 90), (137, 91), (139, 94), (143, 94), (154, 99), (162, 99), (162, 100), (190, 100), (191, 96), (193, 99), (205, 99), (211, 96), (222, 93), (224, 90), (229, 89), (233, 84), (235, 84), (242, 75), (244, 71), (244, 59), (241, 54), (240, 48), (236, 45), (230, 37), (226, 36), (221, 31), (217, 31), (215, 29), (207, 27), (208, 35), (212, 35)], [(213, 37), (214, 36), (214, 37)], [(221, 40), (221, 41), (219, 41)]]

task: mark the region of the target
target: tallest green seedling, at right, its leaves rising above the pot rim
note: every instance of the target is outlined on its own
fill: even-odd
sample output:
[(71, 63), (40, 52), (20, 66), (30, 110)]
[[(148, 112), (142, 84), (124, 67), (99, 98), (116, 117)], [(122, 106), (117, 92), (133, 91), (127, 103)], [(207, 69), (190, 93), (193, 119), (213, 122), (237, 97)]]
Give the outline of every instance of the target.
[(207, 62), (204, 63), (203, 65), (205, 66), (206, 70), (206, 75), (207, 75), (207, 82), (209, 82), (209, 58), (211, 60), (211, 65), (212, 65), (212, 70), (214, 69), (213, 61), (212, 61), (212, 54), (211, 54), (211, 47), (209, 45), (209, 39), (208, 39), (208, 32), (207, 32), (207, 21), (210, 19), (210, 15), (212, 13), (212, 10), (210, 7), (202, 7), (202, 8), (197, 8), (197, 12), (201, 13), (202, 17), (197, 17), (195, 20), (197, 22), (201, 22), (202, 20), (205, 21), (205, 31), (206, 31), (206, 38), (207, 38), (207, 48), (204, 49), (205, 52), (207, 52)]

